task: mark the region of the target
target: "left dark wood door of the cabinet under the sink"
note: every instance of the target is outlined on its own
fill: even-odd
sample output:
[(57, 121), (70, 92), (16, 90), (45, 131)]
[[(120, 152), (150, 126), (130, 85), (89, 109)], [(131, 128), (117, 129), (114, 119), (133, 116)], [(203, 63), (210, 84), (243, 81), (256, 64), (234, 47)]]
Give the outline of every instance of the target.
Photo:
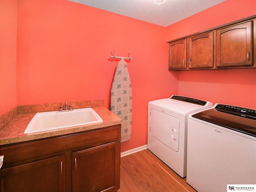
[(0, 170), (1, 192), (64, 192), (65, 157), (57, 156)]

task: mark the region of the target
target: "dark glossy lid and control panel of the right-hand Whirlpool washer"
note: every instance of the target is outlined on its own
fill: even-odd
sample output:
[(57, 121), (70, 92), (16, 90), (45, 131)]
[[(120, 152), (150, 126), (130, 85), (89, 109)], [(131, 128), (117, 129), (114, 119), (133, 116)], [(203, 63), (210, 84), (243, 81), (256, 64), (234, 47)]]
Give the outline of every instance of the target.
[(217, 103), (214, 109), (196, 113), (192, 117), (256, 137), (255, 109)]

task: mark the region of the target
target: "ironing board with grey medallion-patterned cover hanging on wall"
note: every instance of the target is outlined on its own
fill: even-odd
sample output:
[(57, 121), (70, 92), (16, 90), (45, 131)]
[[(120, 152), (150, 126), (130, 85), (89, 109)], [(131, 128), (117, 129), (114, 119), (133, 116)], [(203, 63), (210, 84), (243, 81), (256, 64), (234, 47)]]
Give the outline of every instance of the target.
[(118, 62), (111, 87), (110, 111), (122, 119), (121, 143), (128, 141), (132, 135), (132, 87), (123, 58)]

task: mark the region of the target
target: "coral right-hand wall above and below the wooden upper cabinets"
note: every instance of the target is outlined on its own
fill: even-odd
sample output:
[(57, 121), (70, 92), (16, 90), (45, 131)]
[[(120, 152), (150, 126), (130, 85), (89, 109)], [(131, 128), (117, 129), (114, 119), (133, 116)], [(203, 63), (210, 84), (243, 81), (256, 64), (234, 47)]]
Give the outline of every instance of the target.
[[(256, 15), (255, 0), (226, 0), (168, 26), (166, 42), (252, 15)], [(178, 94), (256, 109), (255, 74), (256, 69), (180, 71)]]

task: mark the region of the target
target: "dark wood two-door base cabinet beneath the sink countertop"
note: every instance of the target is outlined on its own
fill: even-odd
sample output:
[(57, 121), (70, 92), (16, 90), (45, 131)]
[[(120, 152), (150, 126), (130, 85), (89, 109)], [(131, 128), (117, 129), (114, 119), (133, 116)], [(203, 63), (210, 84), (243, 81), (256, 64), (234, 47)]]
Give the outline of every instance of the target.
[(120, 125), (0, 147), (0, 192), (115, 192)]

